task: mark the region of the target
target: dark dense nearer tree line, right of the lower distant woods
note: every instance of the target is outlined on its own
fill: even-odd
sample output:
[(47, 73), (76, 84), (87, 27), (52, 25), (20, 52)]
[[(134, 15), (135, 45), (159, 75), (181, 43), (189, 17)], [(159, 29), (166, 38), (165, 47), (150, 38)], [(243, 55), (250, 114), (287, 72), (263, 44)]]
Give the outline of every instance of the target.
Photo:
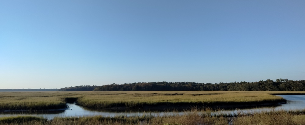
[(305, 80), (267, 79), (258, 82), (195, 83), (195, 82), (149, 82), (125, 83), (99, 86), (94, 91), (304, 91)]

